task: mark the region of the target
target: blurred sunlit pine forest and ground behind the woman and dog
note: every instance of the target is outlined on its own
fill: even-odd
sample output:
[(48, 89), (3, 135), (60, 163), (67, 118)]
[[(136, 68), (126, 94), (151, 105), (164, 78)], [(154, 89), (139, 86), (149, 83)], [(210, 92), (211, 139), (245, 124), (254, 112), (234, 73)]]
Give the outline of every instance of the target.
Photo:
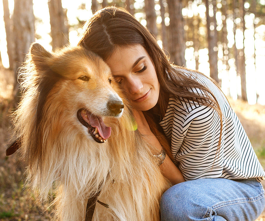
[[(265, 0), (3, 0), (0, 3), (0, 220), (49, 220), (52, 208), (24, 187), (19, 153), (5, 156), (17, 69), (32, 42), (48, 51), (76, 45), (82, 25), (105, 6), (126, 8), (176, 65), (221, 86), (265, 166)], [(2, 18), (2, 19), (1, 19)], [(265, 220), (261, 215), (258, 220)]]

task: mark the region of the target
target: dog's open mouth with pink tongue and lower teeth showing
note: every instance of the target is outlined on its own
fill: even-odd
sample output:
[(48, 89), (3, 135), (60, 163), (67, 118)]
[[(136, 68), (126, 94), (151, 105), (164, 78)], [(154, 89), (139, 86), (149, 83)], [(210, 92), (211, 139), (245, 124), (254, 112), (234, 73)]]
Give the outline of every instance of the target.
[(102, 117), (95, 116), (88, 110), (80, 109), (77, 111), (77, 118), (88, 128), (88, 133), (97, 143), (104, 143), (110, 137), (111, 128), (105, 125)]

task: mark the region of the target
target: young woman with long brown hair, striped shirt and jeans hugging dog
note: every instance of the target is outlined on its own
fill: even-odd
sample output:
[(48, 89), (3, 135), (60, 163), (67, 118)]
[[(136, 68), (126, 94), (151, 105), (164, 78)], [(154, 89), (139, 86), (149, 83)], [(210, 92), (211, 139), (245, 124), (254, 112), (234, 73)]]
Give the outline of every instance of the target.
[(81, 37), (79, 45), (110, 66), (135, 109), (138, 130), (160, 157), (167, 152), (160, 168), (173, 186), (161, 198), (161, 219), (255, 220), (264, 209), (265, 172), (218, 86), (170, 64), (125, 9), (98, 11)]

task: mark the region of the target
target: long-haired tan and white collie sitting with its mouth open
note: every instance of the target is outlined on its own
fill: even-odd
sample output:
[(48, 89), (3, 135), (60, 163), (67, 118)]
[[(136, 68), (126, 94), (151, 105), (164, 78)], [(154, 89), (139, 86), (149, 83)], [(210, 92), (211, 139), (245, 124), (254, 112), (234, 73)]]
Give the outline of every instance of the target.
[(14, 134), (27, 184), (42, 202), (55, 195), (55, 219), (85, 220), (100, 189), (105, 206), (93, 220), (160, 220), (168, 182), (105, 62), (81, 47), (50, 53), (34, 43), (20, 77)]

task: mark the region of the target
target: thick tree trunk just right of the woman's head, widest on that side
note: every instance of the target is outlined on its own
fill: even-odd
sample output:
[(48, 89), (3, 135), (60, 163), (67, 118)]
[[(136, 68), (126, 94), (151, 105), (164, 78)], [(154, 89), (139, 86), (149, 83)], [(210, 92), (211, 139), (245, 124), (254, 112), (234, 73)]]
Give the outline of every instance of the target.
[(184, 25), (182, 17), (182, 3), (180, 0), (168, 0), (170, 24), (168, 28), (170, 61), (176, 65), (186, 65)]

